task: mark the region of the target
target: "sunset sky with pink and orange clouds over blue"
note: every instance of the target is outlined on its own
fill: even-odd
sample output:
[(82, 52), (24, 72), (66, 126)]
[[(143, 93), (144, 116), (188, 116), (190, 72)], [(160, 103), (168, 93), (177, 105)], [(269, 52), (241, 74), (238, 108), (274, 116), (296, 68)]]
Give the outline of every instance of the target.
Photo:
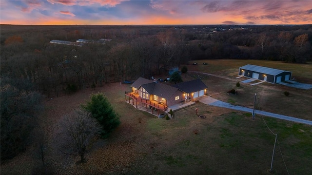
[(0, 0), (1, 24), (312, 24), (311, 0)]

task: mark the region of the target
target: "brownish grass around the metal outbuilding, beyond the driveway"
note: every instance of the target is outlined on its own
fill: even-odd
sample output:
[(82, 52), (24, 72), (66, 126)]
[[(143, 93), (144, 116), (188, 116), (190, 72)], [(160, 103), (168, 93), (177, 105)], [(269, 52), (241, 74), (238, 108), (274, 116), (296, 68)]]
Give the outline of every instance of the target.
[[(276, 65), (271, 67), (282, 70), (290, 70), (290, 68), (292, 68), (290, 71), (300, 71), (298, 75), (306, 77), (297, 76), (297, 78), (305, 79), (306, 81), (303, 83), (312, 83), (312, 78), (309, 78), (309, 75), (310, 77), (312, 75), (312, 64), (288, 64), (273, 61), (263, 61), (262, 63), (262, 61), (259, 60), (201, 60), (201, 62), (196, 62), (198, 62), (198, 65), (187, 65), (189, 70), (220, 75), (228, 78), (208, 76), (206, 79), (203, 79), (203, 82), (208, 86), (207, 95), (211, 95), (224, 102), (253, 108), (254, 93), (256, 93), (256, 109), (258, 110), (312, 120), (312, 89), (297, 89), (271, 83), (261, 83), (255, 86), (250, 86), (252, 83), (240, 83), (240, 87), (236, 87), (237, 81), (242, 81), (247, 78), (235, 79), (238, 77), (238, 67), (242, 65), (255, 64), (269, 66), (269, 64), (271, 64)], [(202, 62), (207, 62), (208, 65), (203, 65)], [(279, 67), (277, 65), (279, 65)], [(289, 65), (291, 66), (287, 67)], [(194, 75), (194, 73), (192, 74)], [(185, 76), (183, 76), (183, 78), (185, 78)], [(190, 76), (187, 76), (185, 79), (190, 78)], [(228, 95), (226, 92), (231, 89), (237, 90), (238, 95)], [(291, 95), (286, 97), (283, 94), (284, 91), (290, 92)]]

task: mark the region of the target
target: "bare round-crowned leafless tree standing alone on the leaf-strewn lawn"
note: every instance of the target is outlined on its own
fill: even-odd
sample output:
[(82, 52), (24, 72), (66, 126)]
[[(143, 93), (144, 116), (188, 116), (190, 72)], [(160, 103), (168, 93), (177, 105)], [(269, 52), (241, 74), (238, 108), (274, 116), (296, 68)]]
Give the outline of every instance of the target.
[(91, 113), (81, 109), (64, 116), (60, 120), (59, 149), (66, 155), (80, 156), (80, 163), (85, 162), (90, 141), (100, 131), (98, 121)]

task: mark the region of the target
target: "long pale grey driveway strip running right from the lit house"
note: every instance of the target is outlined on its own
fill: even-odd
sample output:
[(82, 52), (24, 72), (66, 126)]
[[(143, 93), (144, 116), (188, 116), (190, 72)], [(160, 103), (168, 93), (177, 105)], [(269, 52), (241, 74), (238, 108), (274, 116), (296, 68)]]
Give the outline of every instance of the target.
[[(251, 108), (232, 105), (230, 103), (226, 103), (226, 102), (223, 102), (220, 100), (209, 103), (209, 105), (253, 113), (253, 109), (251, 109)], [(274, 114), (274, 113), (269, 113), (266, 111), (259, 111), (259, 110), (254, 110), (254, 113), (262, 115), (262, 116), (274, 117), (274, 118), (279, 118), (279, 119), (283, 119), (283, 120), (294, 121), (294, 122), (298, 122), (298, 123), (304, 123), (304, 124), (312, 125), (312, 121), (301, 119), (301, 118), (284, 116), (284, 115), (280, 115), (280, 114)]]

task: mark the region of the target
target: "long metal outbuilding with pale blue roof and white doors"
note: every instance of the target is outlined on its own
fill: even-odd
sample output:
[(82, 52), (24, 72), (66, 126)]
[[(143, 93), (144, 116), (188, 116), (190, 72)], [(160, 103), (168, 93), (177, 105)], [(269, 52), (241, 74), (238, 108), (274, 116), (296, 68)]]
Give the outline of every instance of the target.
[(270, 83), (290, 80), (292, 72), (247, 64), (239, 68), (238, 75), (255, 78)]

